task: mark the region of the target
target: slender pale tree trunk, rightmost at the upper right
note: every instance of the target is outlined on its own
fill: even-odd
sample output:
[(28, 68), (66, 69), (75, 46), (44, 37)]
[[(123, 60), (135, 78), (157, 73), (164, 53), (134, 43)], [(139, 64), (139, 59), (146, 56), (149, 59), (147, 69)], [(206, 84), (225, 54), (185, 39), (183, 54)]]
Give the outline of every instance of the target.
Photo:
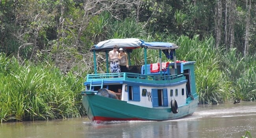
[(247, 18), (246, 18), (246, 29), (245, 29), (245, 49), (243, 51), (243, 56), (249, 52), (249, 32), (250, 32), (250, 7), (251, 7), (251, 0), (249, 0), (249, 7), (248, 7), (248, 0), (246, 0), (246, 7), (248, 9)]

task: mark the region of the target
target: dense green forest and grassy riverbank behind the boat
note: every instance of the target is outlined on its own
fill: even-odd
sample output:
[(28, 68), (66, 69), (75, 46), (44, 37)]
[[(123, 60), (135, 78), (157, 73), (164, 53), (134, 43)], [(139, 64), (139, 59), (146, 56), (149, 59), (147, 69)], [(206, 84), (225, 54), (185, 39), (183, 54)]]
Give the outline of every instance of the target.
[(255, 101), (255, 22), (254, 0), (0, 0), (1, 122), (85, 116), (89, 49), (113, 38), (176, 43), (178, 60), (196, 61), (200, 104)]

